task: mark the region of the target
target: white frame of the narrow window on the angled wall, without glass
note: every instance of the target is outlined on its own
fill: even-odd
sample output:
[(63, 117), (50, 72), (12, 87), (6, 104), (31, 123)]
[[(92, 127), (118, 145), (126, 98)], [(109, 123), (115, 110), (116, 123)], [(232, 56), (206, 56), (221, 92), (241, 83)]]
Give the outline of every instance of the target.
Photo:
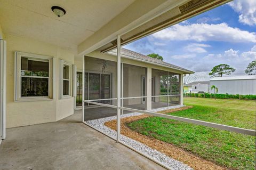
[[(68, 74), (69, 74), (69, 79), (63, 79), (63, 67), (64, 66), (68, 66), (69, 70), (68, 70)], [(72, 80), (73, 80), (73, 76), (72, 76), (72, 72), (73, 72), (73, 65), (65, 60), (60, 59), (60, 68), (59, 68), (59, 75), (60, 75), (60, 87), (59, 87), (59, 99), (67, 99), (67, 98), (72, 98)], [(63, 95), (63, 82), (64, 80), (68, 80), (68, 94), (67, 95)]]

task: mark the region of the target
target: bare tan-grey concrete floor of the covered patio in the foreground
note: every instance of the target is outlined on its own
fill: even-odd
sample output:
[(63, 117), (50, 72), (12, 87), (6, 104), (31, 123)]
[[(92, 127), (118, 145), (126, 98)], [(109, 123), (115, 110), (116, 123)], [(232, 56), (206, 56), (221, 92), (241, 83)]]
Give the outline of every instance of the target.
[(55, 123), (7, 129), (0, 169), (164, 169), (80, 123), (81, 112)]

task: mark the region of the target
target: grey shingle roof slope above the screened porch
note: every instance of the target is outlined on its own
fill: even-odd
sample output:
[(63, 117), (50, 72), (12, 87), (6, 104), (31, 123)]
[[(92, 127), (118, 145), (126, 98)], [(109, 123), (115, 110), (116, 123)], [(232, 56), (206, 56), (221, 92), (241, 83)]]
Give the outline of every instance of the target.
[[(116, 50), (113, 50), (111, 52), (116, 53)], [(170, 68), (173, 68), (173, 69), (178, 69), (178, 70), (185, 71), (186, 73), (187, 72), (188, 73), (194, 73), (193, 71), (187, 70), (185, 68), (175, 66), (173, 64), (170, 64), (170, 63), (158, 60), (158, 59), (151, 58), (150, 56), (143, 55), (141, 53), (137, 53), (137, 52), (134, 52), (134, 51), (131, 51), (131, 50), (127, 50), (126, 48), (121, 48), (121, 55), (125, 55), (125, 56), (130, 57), (130, 58), (144, 60), (144, 61), (147, 61), (147, 62), (151, 62), (153, 64), (161, 64), (163, 66), (167, 66), (167, 67), (170, 67)]]

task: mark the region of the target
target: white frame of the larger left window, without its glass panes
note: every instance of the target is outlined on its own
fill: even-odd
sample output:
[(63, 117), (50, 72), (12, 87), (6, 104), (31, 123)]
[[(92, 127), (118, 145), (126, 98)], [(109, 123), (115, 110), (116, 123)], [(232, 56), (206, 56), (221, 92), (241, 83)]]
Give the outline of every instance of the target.
[[(46, 55), (38, 55), (38, 54), (32, 54), (32, 53), (26, 53), (26, 52), (19, 52), (15, 51), (15, 76), (14, 76), (14, 101), (40, 101), (40, 100), (49, 100), (53, 99), (53, 66), (54, 66), (54, 60), (53, 56), (46, 56)], [(21, 97), (21, 78), (22, 77), (28, 77), (28, 76), (21, 76), (21, 57), (26, 57), (28, 59), (42, 61), (42, 60), (48, 60), (49, 61), (49, 77), (43, 77), (48, 78), (48, 96), (27, 96), (27, 97)], [(39, 76), (29, 76), (34, 78), (42, 78)]]

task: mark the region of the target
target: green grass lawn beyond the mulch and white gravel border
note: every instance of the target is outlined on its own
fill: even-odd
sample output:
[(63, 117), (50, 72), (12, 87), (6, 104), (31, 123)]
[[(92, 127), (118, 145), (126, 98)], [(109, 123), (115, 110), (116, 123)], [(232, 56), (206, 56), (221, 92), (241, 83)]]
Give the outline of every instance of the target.
[[(191, 109), (170, 115), (255, 129), (255, 101), (186, 98)], [(128, 124), (141, 134), (172, 143), (206, 160), (231, 169), (254, 169), (255, 137), (149, 117)]]

